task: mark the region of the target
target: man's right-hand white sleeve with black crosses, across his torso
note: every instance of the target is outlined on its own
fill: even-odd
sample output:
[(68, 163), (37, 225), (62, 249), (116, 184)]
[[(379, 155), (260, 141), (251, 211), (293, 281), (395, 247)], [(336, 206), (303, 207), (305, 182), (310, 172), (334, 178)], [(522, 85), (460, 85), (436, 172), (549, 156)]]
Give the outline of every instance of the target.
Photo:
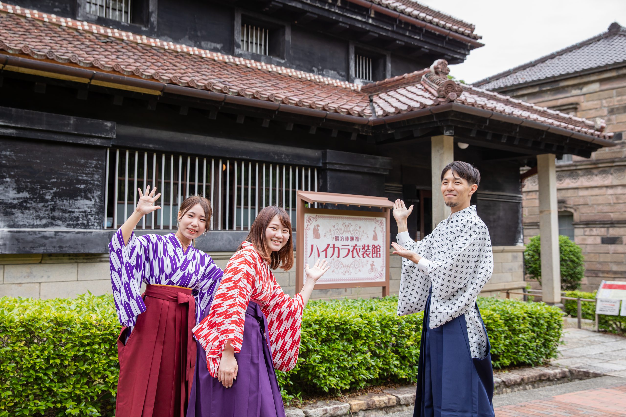
[(433, 282), (429, 327), (467, 313), (493, 272), (491, 239), (485, 223), (469, 219), (456, 236), (451, 256), (444, 261), (430, 260), (428, 276)]

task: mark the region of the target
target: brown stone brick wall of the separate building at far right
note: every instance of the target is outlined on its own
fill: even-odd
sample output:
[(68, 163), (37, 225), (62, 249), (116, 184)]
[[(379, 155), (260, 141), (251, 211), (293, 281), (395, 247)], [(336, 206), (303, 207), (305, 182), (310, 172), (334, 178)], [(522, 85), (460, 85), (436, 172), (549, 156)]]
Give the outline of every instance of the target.
[[(602, 279), (626, 281), (626, 68), (502, 93), (578, 117), (602, 118), (615, 134), (617, 146), (557, 165), (557, 199), (559, 211), (573, 213), (575, 243), (585, 255), (583, 289), (597, 289)], [(536, 176), (526, 178), (522, 192), (528, 243), (539, 233)]]

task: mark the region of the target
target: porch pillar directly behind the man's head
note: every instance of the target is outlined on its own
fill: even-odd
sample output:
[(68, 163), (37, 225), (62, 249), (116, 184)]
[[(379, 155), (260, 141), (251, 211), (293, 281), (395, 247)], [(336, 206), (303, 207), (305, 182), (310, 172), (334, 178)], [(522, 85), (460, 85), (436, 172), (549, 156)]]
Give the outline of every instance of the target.
[(454, 161), (454, 138), (452, 136), (433, 136), (431, 138), (431, 187), (433, 205), (433, 230), (440, 221), (450, 215), (441, 196), (441, 170)]

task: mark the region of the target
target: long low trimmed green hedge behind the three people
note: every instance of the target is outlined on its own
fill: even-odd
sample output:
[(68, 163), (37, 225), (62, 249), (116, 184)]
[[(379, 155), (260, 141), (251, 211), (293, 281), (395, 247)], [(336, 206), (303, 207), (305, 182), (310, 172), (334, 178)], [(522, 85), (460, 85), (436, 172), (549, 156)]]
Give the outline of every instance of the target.
[[(396, 316), (397, 301), (310, 302), (297, 367), (279, 372), (284, 399), (416, 381), (422, 314)], [(496, 368), (556, 358), (558, 308), (493, 298), (479, 305)], [(112, 416), (118, 329), (111, 296), (0, 298), (0, 417)]]

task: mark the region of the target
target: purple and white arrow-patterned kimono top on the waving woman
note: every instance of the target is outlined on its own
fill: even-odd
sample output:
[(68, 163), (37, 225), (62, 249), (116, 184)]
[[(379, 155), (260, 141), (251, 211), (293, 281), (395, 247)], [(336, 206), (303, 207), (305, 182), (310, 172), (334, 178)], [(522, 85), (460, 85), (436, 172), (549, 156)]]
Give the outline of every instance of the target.
[(142, 282), (191, 288), (196, 323), (207, 315), (223, 274), (210, 256), (193, 246), (183, 253), (173, 233), (133, 233), (125, 246), (121, 229), (111, 239), (109, 249), (113, 298), (123, 326), (135, 326), (137, 316), (146, 311), (140, 292)]

